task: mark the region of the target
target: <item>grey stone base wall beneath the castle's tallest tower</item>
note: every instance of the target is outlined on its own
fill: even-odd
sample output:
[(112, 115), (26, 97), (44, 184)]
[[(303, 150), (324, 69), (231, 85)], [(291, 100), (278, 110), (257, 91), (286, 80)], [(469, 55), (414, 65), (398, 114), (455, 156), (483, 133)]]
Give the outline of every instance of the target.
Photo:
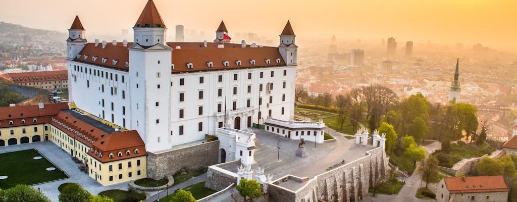
[(218, 162), (219, 141), (212, 141), (191, 147), (147, 152), (147, 177), (161, 179), (172, 176), (180, 170), (197, 170)]

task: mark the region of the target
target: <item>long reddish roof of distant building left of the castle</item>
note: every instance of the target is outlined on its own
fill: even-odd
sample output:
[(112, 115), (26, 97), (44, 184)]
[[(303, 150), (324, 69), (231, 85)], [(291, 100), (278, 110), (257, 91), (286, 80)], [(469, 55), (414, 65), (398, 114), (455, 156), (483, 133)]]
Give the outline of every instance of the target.
[(68, 80), (68, 70), (5, 73), (0, 77), (13, 83), (60, 81)]

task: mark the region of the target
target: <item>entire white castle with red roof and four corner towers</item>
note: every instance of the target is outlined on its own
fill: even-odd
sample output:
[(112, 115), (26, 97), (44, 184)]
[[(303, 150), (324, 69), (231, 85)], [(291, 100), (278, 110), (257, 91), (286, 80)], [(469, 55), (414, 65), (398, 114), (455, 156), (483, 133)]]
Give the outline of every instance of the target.
[(150, 0), (133, 31), (134, 42), (88, 42), (75, 18), (67, 40), (69, 99), (110, 125), (138, 131), (147, 151), (294, 115), (298, 46), (290, 22), (278, 47), (230, 43), (223, 22), (213, 43), (168, 42)]

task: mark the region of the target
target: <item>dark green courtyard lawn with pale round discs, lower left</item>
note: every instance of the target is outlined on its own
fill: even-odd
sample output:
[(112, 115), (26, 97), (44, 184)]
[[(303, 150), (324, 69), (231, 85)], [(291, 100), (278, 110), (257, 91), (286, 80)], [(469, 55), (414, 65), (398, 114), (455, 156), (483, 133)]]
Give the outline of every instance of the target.
[[(2, 162), (0, 163), (0, 176), (8, 177), (0, 180), (0, 188), (7, 189), (17, 184), (32, 185), (68, 178), (63, 171), (49, 160), (44, 157), (34, 160), (34, 157), (43, 156), (34, 149), (0, 154), (0, 162)], [(48, 167), (56, 167), (56, 169), (45, 170)]]

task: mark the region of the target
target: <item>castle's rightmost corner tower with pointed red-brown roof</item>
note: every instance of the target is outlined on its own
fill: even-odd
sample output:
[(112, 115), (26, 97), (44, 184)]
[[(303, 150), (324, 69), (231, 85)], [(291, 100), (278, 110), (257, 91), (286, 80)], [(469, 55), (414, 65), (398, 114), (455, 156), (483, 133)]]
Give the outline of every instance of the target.
[(287, 66), (296, 66), (298, 46), (295, 44), (295, 37), (293, 27), (291, 27), (291, 23), (287, 21), (282, 34), (280, 34), (280, 45), (278, 45), (280, 55), (282, 55), (285, 65)]

